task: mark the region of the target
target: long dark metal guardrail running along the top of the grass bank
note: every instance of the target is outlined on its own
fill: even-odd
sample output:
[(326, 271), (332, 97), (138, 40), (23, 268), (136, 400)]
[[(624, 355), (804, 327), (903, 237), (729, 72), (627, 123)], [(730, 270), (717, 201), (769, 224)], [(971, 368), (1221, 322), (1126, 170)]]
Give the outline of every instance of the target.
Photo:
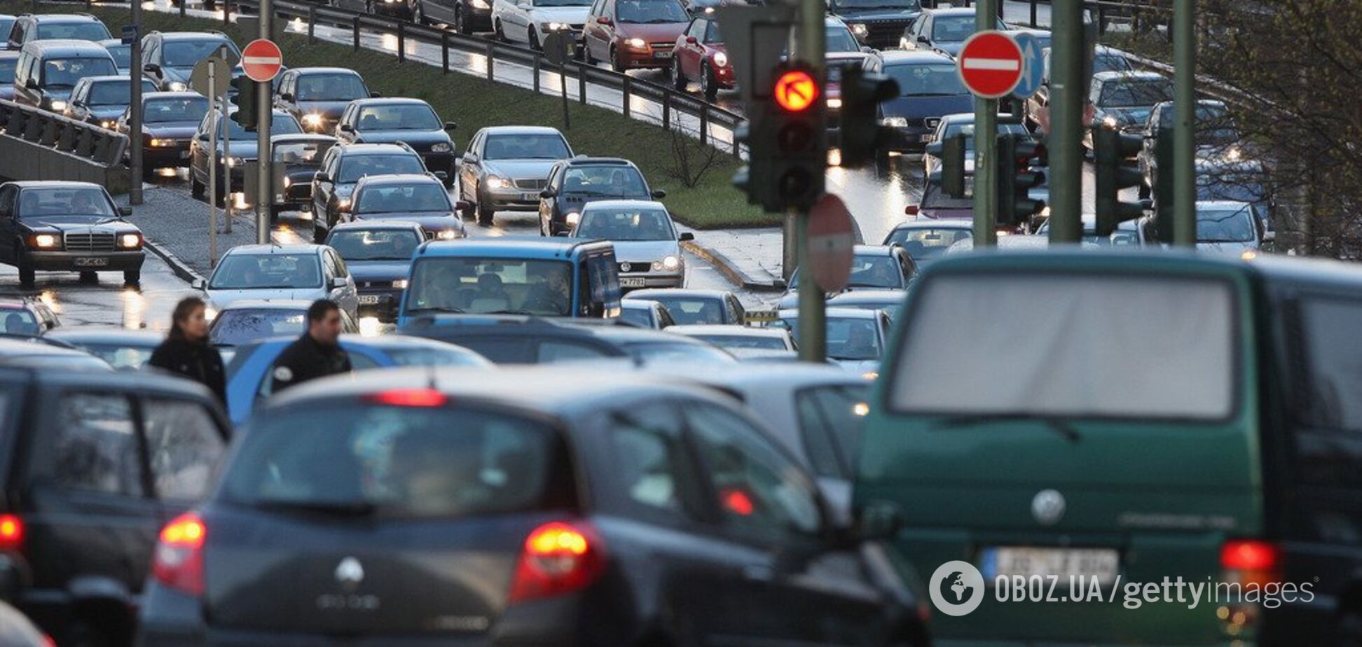
[[(240, 0), (233, 3), (237, 11), (241, 8), (249, 8), (259, 12), (259, 3), (252, 0)], [(621, 93), (620, 112), (624, 116), (631, 116), (631, 101), (637, 97), (662, 106), (662, 127), (670, 129), (673, 127), (673, 114), (686, 114), (699, 121), (699, 138), (700, 143), (707, 143), (716, 146), (720, 142), (714, 140), (710, 136), (710, 125), (718, 125), (722, 128), (733, 129), (741, 124), (745, 117), (731, 110), (726, 110), (714, 104), (706, 102), (704, 99), (692, 97), (688, 93), (677, 91), (671, 87), (652, 83), (650, 80), (629, 76), (627, 74), (616, 72), (613, 69), (602, 69), (595, 65), (588, 65), (582, 61), (567, 61), (561, 68), (548, 60), (548, 57), (538, 50), (509, 45), (505, 42), (475, 37), (456, 34), (439, 27), (432, 27), (426, 25), (417, 25), (414, 22), (402, 20), (396, 18), (379, 16), (373, 14), (361, 14), (357, 11), (342, 10), (338, 7), (326, 7), (311, 3), (289, 1), (289, 0), (275, 0), (274, 1), (275, 18), (285, 19), (300, 19), (308, 25), (308, 38), (316, 38), (315, 27), (317, 25), (349, 29), (351, 35), (351, 46), (360, 49), (361, 46), (361, 29), (380, 29), (388, 30), (396, 35), (396, 57), (399, 63), (405, 63), (407, 59), (406, 48), (407, 41), (415, 41), (425, 45), (432, 45), (441, 52), (441, 68), (444, 72), (449, 71), (449, 52), (460, 52), (464, 54), (482, 56), (488, 61), (486, 64), (486, 78), (488, 80), (496, 80), (496, 65), (497, 63), (515, 64), (520, 67), (530, 68), (533, 71), (533, 86), (534, 91), (539, 91), (539, 72), (552, 71), (560, 72), (577, 82), (577, 101), (583, 105), (587, 104), (587, 86), (599, 86)], [(738, 154), (737, 144), (730, 144), (727, 147), (729, 153), (734, 155)]]

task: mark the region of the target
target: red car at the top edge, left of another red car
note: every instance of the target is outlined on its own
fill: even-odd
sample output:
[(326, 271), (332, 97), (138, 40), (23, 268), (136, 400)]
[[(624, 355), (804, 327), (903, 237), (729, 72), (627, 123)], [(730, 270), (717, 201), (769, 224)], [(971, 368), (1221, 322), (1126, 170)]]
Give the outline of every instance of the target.
[(583, 56), (588, 64), (610, 61), (620, 72), (665, 69), (689, 22), (678, 0), (597, 0), (583, 30)]

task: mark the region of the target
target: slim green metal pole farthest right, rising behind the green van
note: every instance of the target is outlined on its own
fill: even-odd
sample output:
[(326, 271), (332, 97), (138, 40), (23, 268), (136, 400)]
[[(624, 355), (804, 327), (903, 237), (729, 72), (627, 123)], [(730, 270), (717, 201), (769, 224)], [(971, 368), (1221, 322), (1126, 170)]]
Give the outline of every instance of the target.
[(1196, 0), (1173, 3), (1173, 245), (1196, 247)]

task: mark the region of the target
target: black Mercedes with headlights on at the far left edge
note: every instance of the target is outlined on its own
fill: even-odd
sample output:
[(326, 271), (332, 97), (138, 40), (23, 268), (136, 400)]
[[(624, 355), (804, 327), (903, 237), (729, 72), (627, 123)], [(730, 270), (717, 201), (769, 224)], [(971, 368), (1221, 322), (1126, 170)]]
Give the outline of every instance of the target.
[[(19, 282), (31, 286), (38, 270), (80, 272), (121, 271), (123, 281), (142, 279), (142, 230), (123, 217), (128, 207), (113, 203), (93, 183), (19, 181), (0, 185), (0, 262), (19, 268)], [(10, 242), (12, 241), (12, 242)]]

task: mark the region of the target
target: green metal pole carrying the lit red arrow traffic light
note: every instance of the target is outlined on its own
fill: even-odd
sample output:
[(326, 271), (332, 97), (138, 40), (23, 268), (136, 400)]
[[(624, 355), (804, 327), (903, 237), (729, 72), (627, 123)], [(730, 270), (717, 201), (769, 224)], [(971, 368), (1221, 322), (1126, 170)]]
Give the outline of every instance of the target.
[[(824, 44), (827, 16), (827, 0), (799, 0), (799, 26), (795, 30), (795, 56), (812, 65), (814, 78), (824, 78), (824, 59), (827, 57)], [(825, 94), (819, 101), (825, 101)], [(813, 281), (813, 271), (809, 264), (809, 214), (791, 212), (795, 222), (795, 240), (798, 245), (799, 267), (799, 360), (813, 364), (823, 364), (827, 360), (827, 312), (823, 300), (823, 289)]]

